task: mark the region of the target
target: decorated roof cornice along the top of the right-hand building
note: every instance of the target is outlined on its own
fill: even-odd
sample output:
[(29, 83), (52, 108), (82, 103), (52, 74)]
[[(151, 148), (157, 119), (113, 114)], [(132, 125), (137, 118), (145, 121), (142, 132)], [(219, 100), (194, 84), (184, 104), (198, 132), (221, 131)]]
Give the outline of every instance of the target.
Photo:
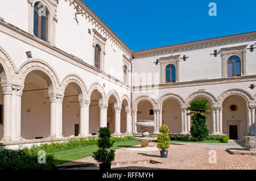
[(135, 59), (152, 57), (152, 56), (163, 56), (165, 54), (180, 53), (185, 51), (204, 49), (204, 48), (210, 48), (210, 47), (218, 47), (218, 46), (230, 45), (235, 43), (244, 43), (245, 41), (253, 41), (255, 39), (256, 39), (256, 31), (253, 31), (253, 32), (241, 33), (237, 35), (215, 37), (212, 39), (169, 45), (166, 47), (139, 50), (137, 52), (133, 52), (132, 56)]

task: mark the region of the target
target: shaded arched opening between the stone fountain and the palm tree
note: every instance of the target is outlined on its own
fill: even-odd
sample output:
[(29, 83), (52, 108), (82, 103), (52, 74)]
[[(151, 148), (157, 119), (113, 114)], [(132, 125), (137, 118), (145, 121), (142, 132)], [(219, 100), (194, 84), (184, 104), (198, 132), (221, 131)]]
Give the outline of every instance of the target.
[(181, 133), (181, 108), (176, 99), (167, 99), (162, 105), (162, 124), (168, 125), (169, 133)]

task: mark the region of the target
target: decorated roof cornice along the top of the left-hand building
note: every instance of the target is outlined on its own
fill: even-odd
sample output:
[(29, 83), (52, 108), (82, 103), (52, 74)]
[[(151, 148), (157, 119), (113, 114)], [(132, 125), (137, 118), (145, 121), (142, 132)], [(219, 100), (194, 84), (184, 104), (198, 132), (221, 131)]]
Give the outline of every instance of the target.
[(98, 31), (103, 33), (110, 41), (112, 41), (118, 48), (120, 48), (125, 54), (131, 56), (133, 53), (131, 49), (113, 32), (113, 30), (92, 10), (88, 5), (86, 5), (82, 0), (65, 0), (69, 1), (69, 5), (73, 5), (74, 9), (82, 12), (82, 16), (88, 19), (92, 25)]

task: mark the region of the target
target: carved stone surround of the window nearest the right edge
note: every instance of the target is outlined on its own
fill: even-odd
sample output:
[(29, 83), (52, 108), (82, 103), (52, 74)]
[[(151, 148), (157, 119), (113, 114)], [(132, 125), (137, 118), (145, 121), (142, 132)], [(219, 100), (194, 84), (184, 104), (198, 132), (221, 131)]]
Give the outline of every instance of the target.
[(241, 76), (246, 75), (246, 47), (241, 45), (238, 47), (221, 48), (222, 60), (222, 77), (228, 77), (228, 59), (231, 56), (238, 56), (241, 60)]

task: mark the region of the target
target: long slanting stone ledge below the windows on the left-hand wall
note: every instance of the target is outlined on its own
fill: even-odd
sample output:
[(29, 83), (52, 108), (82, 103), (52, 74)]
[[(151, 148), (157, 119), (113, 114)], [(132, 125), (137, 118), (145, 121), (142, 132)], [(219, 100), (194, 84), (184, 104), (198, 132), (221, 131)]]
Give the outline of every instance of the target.
[(125, 85), (122, 81), (119, 81), (119, 79), (113, 77), (112, 75), (106, 74), (104, 71), (101, 71), (94, 66), (80, 60), (79, 58), (72, 56), (72, 54), (64, 52), (64, 50), (61, 50), (47, 43), (46, 41), (36, 38), (34, 35), (31, 35), (30, 33), (23, 31), (18, 27), (15, 27), (13, 24), (5, 22), (5, 20), (0, 19), (0, 31), (6, 33), (9, 36), (15, 37), (20, 41), (30, 44), (38, 49), (42, 49), (43, 51), (52, 54), (53, 56), (56, 56), (61, 60), (67, 61), (75, 66), (78, 66), (79, 68), (89, 71), (90, 73), (98, 75), (99, 77), (106, 79), (107, 81), (117, 83), (118, 86), (130, 90), (130, 86)]

